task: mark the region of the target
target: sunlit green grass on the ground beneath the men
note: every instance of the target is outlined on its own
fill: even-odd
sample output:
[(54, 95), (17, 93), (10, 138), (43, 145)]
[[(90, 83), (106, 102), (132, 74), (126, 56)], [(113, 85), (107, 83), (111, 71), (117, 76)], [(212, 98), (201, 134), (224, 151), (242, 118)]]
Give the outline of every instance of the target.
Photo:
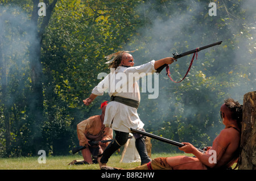
[[(152, 159), (157, 157), (172, 157), (180, 154), (159, 153), (152, 154)], [(186, 154), (189, 155), (189, 154)], [(99, 170), (98, 164), (93, 165), (72, 165), (68, 163), (74, 159), (81, 160), (81, 154), (68, 156), (49, 156), (46, 157), (46, 163), (38, 163), (38, 157), (18, 157), (18, 158), (0, 158), (0, 170)], [(112, 155), (108, 166), (130, 169), (141, 165), (140, 162), (119, 163), (121, 155)]]

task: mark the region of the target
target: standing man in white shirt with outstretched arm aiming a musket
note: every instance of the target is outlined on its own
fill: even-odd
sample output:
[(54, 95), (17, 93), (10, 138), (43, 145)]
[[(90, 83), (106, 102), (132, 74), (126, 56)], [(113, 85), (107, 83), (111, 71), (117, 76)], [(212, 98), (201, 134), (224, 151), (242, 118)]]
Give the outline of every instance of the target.
[[(112, 73), (108, 74), (96, 87), (89, 98), (83, 100), (88, 106), (98, 96), (103, 95), (109, 89), (111, 102), (106, 107), (104, 125), (115, 131), (115, 140), (104, 150), (101, 159), (98, 160), (100, 167), (105, 166), (110, 156), (125, 145), (130, 128), (144, 130), (144, 124), (139, 119), (137, 109), (141, 100), (139, 86), (136, 81), (147, 73), (155, 73), (156, 69), (164, 64), (172, 64), (175, 58), (166, 57), (158, 61), (150, 61), (140, 66), (134, 66), (133, 56), (126, 52), (119, 53), (110, 64)], [(134, 67), (133, 67), (134, 66)], [(129, 77), (131, 77), (130, 79)], [(121, 79), (122, 77), (122, 79)], [(121, 79), (121, 81), (120, 81)], [(141, 165), (151, 161), (147, 155), (145, 137), (134, 134), (135, 146), (141, 157)]]

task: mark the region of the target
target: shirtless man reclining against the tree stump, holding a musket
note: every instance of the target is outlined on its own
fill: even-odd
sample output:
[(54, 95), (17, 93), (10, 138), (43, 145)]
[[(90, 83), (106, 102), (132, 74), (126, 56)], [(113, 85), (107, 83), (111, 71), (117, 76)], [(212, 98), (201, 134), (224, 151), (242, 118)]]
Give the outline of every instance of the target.
[[(183, 142), (185, 146), (179, 149), (185, 153), (192, 153), (195, 157), (155, 158), (150, 163), (131, 170), (228, 169), (237, 162), (239, 156), (242, 106), (233, 99), (226, 99), (221, 106), (220, 113), (225, 128), (214, 139), (213, 145), (208, 147), (205, 153), (201, 153), (192, 144)], [(213, 158), (214, 156), (216, 158)], [(214, 162), (214, 159), (216, 162)], [(102, 169), (111, 169), (111, 167), (103, 167)]]

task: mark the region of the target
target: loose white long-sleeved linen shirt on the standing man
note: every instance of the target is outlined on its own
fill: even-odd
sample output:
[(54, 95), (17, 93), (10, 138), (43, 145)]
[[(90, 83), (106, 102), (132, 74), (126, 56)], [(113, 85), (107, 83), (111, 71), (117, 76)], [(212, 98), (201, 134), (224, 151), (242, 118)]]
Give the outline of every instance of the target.
[[(141, 95), (137, 81), (146, 76), (147, 73), (155, 73), (154, 65), (155, 61), (152, 60), (146, 64), (130, 68), (118, 66), (117, 69), (112, 69), (110, 74), (94, 87), (92, 93), (103, 95), (108, 90), (110, 97), (121, 96), (140, 102)], [(144, 123), (139, 119), (136, 108), (112, 101), (106, 107), (104, 125), (116, 131), (129, 133), (130, 128), (141, 130)]]

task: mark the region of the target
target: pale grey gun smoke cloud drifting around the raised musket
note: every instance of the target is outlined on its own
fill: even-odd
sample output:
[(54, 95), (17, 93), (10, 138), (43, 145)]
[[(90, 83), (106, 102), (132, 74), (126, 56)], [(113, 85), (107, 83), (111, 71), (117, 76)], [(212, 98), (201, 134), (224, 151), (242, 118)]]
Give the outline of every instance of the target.
[[(225, 3), (226, 1), (221, 1), (220, 5), (226, 7)], [(255, 56), (253, 57), (253, 54), (255, 55), (253, 37), (255, 35), (255, 12), (253, 10), (256, 5), (255, 1), (242, 2), (241, 11), (245, 10), (245, 19), (238, 19), (235, 14), (232, 14), (232, 10), (218, 9), (218, 7), (217, 16), (209, 16), (208, 4), (209, 2), (179, 1), (172, 2), (172, 9), (168, 9), (170, 6), (166, 6), (166, 9), (156, 10), (154, 2), (147, 2), (137, 10), (142, 17), (142, 22), (143, 19), (150, 19), (151, 23), (145, 23), (138, 30), (140, 38), (135, 37), (135, 39), (139, 39), (138, 41), (132, 40), (132, 43), (128, 43), (124, 48), (125, 50), (139, 48), (138, 52), (133, 53), (134, 66), (150, 60), (172, 57), (172, 53), (185, 52), (223, 39), (230, 38), (231, 40), (228, 41), (233, 43), (230, 46), (228, 41), (224, 41), (220, 46), (199, 52), (198, 60), (194, 61), (188, 77), (179, 84), (170, 81), (163, 69), (159, 75), (160, 96), (158, 99), (150, 100), (156, 107), (145, 105), (142, 100), (138, 110), (141, 120), (145, 123), (146, 131), (154, 131), (155, 127), (163, 124), (159, 120), (169, 122), (172, 127), (179, 121), (179, 116), (191, 123), (191, 129), (196, 130), (193, 128), (193, 124), (196, 127), (197, 119), (205, 114), (207, 119), (201, 123), (207, 127), (206, 135), (214, 138), (224, 128), (218, 113), (223, 100), (230, 97), (243, 104), (243, 95), (256, 90), (256, 64)], [(174, 11), (175, 13), (172, 12), (173, 7), (177, 9)], [(232, 5), (229, 7), (232, 8)], [(163, 17), (163, 11), (168, 16)], [(227, 18), (230, 16), (232, 18)], [(225, 26), (217, 27), (221, 21)], [(205, 24), (207, 26), (204, 26)], [(245, 24), (250, 27), (245, 27)], [(251, 37), (243, 36), (241, 29), (250, 32)], [(171, 77), (175, 81), (183, 78), (191, 58), (192, 55), (183, 57), (170, 65)], [(240, 69), (244, 65), (249, 65), (250, 69)], [(223, 82), (214, 82), (214, 78), (220, 75), (223, 76)], [(238, 83), (237, 80), (239, 80)], [(218, 87), (221, 84), (225, 86), (221, 90), (210, 90), (207, 86), (209, 83), (218, 85)], [(229, 97), (222, 97), (224, 92)], [(189, 94), (191, 95), (187, 96)], [(189, 99), (189, 97), (193, 99)], [(222, 99), (220, 99), (221, 97)], [(214, 111), (209, 112), (209, 110), (213, 110), (213, 107)], [(181, 136), (181, 138), (184, 137)], [(179, 140), (179, 137), (177, 139), (176, 141), (187, 141)], [(185, 139), (189, 140), (188, 137)], [(198, 141), (197, 144), (199, 144)], [(199, 146), (201, 145), (199, 144)]]

